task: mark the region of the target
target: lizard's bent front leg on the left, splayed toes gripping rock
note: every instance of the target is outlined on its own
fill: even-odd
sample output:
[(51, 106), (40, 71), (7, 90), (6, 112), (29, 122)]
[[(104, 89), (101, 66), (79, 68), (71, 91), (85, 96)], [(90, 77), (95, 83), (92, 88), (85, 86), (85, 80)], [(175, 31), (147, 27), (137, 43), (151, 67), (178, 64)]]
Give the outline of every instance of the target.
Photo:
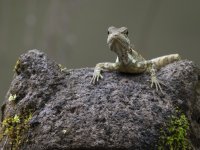
[(109, 62), (98, 63), (94, 68), (94, 73), (93, 73), (91, 83), (95, 84), (96, 82), (99, 81), (99, 79), (103, 78), (103, 76), (101, 75), (101, 72), (103, 70), (115, 71), (115, 70), (118, 70), (118, 68), (119, 68), (118, 63), (109, 63)]

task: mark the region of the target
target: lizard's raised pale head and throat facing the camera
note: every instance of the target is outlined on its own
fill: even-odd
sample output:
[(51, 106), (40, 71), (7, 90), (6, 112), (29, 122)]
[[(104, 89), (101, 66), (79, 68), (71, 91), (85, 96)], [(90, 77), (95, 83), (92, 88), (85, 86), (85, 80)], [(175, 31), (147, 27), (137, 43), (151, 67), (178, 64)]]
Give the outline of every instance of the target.
[(108, 28), (107, 43), (111, 51), (114, 51), (119, 60), (125, 64), (128, 63), (128, 51), (130, 50), (130, 40), (128, 38), (128, 29), (126, 27)]

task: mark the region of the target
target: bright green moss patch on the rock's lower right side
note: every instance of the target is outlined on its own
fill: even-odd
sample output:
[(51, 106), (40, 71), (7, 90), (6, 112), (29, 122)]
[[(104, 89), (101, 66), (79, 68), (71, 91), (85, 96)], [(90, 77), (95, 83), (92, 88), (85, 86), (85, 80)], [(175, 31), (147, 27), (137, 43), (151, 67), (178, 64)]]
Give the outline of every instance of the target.
[(189, 131), (189, 121), (187, 117), (176, 111), (165, 128), (161, 129), (159, 150), (188, 150), (190, 143), (187, 138)]

